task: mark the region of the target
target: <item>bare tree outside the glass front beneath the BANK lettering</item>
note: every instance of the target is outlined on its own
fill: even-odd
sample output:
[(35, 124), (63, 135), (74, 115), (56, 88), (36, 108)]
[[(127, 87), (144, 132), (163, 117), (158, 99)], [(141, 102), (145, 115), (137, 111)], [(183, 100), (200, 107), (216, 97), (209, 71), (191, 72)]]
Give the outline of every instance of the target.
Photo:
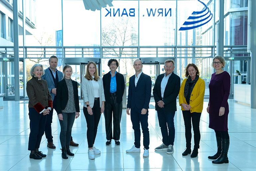
[[(121, 60), (121, 64), (124, 64), (124, 70), (127, 74), (126, 78), (129, 80), (131, 75), (128, 74), (127, 67), (132, 66), (136, 59), (127, 59), (125, 57), (137, 57), (137, 48), (125, 48), (124, 46), (136, 46), (138, 44), (138, 35), (133, 27), (135, 22), (129, 17), (120, 17), (112, 20), (110, 24), (102, 28), (102, 46), (112, 46), (103, 50), (103, 57), (118, 58), (119, 63)], [(119, 46), (120, 48), (114, 48), (113, 46)], [(118, 68), (119, 70), (120, 67)]]

